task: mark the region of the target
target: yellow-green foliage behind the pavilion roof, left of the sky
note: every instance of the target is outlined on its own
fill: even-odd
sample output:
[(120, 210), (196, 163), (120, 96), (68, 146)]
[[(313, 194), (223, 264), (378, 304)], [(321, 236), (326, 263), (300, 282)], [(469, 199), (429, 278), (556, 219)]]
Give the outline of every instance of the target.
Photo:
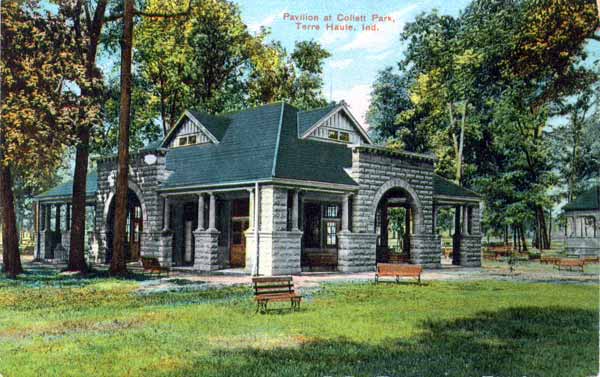
[[(175, 12), (187, 3), (151, 0), (145, 10)], [(302, 41), (288, 54), (279, 43), (266, 43), (267, 35), (250, 33), (238, 6), (225, 0), (194, 0), (188, 16), (143, 18), (135, 58), (142, 93), (149, 94), (144, 111), (159, 116), (166, 130), (186, 108), (220, 113), (274, 101), (323, 105), (329, 53)]]

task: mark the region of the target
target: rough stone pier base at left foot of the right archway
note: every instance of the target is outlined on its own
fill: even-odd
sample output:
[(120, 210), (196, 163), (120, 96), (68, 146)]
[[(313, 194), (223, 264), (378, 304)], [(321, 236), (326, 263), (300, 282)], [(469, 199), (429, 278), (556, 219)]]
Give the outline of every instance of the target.
[(342, 231), (338, 235), (338, 271), (375, 271), (375, 233)]

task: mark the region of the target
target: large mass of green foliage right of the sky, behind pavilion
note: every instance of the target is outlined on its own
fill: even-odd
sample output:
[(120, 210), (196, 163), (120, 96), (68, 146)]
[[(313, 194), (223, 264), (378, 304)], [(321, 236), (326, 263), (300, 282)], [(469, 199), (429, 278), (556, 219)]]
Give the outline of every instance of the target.
[[(581, 64), (596, 12), (590, 0), (475, 0), (456, 18), (418, 16), (402, 33), (398, 72), (388, 68), (374, 85), (375, 134), (433, 150), (439, 174), (484, 193), (487, 226), (545, 228), (556, 200), (548, 189), (559, 183), (548, 124), (558, 103), (597, 82)], [(389, 88), (396, 102), (384, 99)]]

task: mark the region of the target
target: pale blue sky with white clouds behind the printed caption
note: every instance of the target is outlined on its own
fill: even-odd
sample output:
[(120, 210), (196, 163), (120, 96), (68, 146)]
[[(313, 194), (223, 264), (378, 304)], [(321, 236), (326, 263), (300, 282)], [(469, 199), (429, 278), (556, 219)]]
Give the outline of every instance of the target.
[[(470, 1), (238, 0), (236, 3), (241, 9), (244, 22), (251, 30), (257, 31), (260, 26), (269, 27), (271, 39), (281, 41), (288, 51), (293, 49), (297, 40), (319, 41), (332, 55), (325, 64), (325, 96), (330, 100), (344, 99), (357, 119), (368, 127), (364, 115), (369, 106), (371, 84), (378, 71), (395, 65), (401, 58), (404, 46), (399, 40), (399, 33), (404, 25), (414, 20), (418, 14), (432, 9), (437, 9), (440, 14), (457, 16)], [(395, 22), (380, 24), (382, 26), (378, 31), (298, 31), (294, 22), (283, 19), (286, 12), (320, 17), (332, 15), (334, 19), (340, 13), (364, 14), (367, 19), (377, 13), (389, 15)], [(326, 22), (321, 19), (317, 23), (322, 26)], [(588, 46), (588, 52), (588, 60), (599, 59), (599, 44)]]

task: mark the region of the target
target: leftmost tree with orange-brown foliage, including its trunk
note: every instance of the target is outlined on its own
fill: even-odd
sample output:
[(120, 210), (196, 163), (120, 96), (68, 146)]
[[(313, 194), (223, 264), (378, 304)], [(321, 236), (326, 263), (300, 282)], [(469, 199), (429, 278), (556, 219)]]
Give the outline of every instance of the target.
[(0, 204), (4, 270), (14, 277), (23, 269), (13, 172), (39, 178), (60, 164), (79, 112), (69, 88), (84, 81), (63, 17), (40, 12), (36, 1), (3, 2), (1, 7)]

